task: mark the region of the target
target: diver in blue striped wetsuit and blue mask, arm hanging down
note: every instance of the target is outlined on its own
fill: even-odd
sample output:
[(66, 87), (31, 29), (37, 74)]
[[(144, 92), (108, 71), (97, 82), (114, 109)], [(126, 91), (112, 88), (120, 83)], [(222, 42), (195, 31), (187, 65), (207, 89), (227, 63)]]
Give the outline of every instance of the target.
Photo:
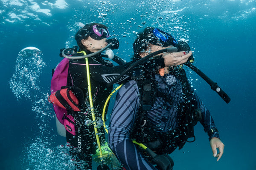
[[(144, 58), (163, 57), (169, 53), (159, 54), (159, 51), (165, 49), (185, 51), (171, 53), (176, 58), (182, 53), (191, 54), (186, 42), (176, 41), (169, 33), (153, 27), (145, 28), (133, 47), (135, 63)], [(172, 170), (174, 163), (168, 154), (177, 147), (180, 150), (186, 141), (195, 141), (193, 127), (199, 121), (218, 161), (224, 144), (209, 110), (189, 84), (185, 70), (178, 63), (152, 66), (147, 61), (134, 67), (138, 71), (134, 71), (132, 80), (123, 84), (116, 95), (108, 131), (113, 153), (126, 170)]]

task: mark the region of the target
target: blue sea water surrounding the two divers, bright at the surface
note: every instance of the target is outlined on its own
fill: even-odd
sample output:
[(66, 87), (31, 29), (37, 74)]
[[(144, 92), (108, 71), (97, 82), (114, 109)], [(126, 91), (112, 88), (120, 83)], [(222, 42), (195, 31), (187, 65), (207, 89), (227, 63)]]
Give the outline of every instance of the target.
[[(65, 138), (55, 129), (47, 103), (59, 49), (76, 45), (75, 22), (109, 26), (127, 61), (136, 32), (156, 26), (189, 41), (198, 66), (230, 96), (226, 104), (198, 75), (188, 75), (210, 110), (225, 144), (220, 161), (212, 157), (207, 134), (195, 127), (196, 141), (171, 156), (175, 170), (256, 170), (256, 2), (255, 0), (1, 0), (1, 170), (71, 169)], [(143, 28), (141, 28), (143, 27)], [(113, 31), (113, 32), (112, 32)], [(18, 53), (27, 46), (43, 52), (37, 90), (16, 96), (10, 87)], [(46, 65), (42, 65), (46, 63)], [(31, 66), (27, 66), (29, 70)], [(19, 74), (17, 74), (17, 77)], [(16, 78), (17, 78), (16, 77)], [(21, 92), (21, 88), (17, 88)], [(19, 91), (20, 90), (20, 91)], [(27, 97), (30, 96), (30, 99)]]

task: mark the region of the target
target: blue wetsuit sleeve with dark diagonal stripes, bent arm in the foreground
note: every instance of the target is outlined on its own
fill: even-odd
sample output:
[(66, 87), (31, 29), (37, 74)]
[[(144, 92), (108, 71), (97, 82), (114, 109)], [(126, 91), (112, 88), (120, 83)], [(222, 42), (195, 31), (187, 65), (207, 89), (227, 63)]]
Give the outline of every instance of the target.
[(156, 170), (130, 138), (139, 105), (138, 94), (135, 81), (129, 81), (119, 89), (111, 114), (108, 144), (126, 170)]

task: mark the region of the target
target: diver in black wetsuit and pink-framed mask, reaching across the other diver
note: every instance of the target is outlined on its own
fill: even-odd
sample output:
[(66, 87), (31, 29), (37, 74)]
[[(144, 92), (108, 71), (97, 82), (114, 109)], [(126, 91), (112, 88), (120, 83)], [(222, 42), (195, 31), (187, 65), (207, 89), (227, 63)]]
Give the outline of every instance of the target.
[[(64, 112), (56, 115), (66, 128), (67, 142), (71, 146), (71, 154), (79, 169), (92, 169), (92, 154), (96, 154), (97, 148), (102, 152), (101, 145), (105, 144), (105, 133), (100, 117), (104, 101), (113, 88), (107, 84), (133, 63), (133, 61), (126, 63), (113, 54), (111, 49), (117, 49), (119, 43), (116, 38), (107, 39), (110, 36), (107, 26), (100, 23), (82, 25), (75, 35), (79, 51), (77, 52), (76, 47), (61, 51), (61, 56), (69, 59), (67, 84), (65, 84), (67, 86), (54, 90), (51, 87), (52, 95), (49, 101), (54, 104), (55, 109), (58, 103), (64, 106)], [(180, 58), (175, 58), (170, 54), (149, 63), (157, 66), (171, 66), (173, 63), (185, 63), (190, 55), (183, 54)], [(110, 60), (119, 65), (114, 65)], [(115, 83), (127, 82), (132, 72), (131, 70), (122, 75)], [(58, 101), (56, 97), (60, 100)], [(100, 157), (101, 165), (97, 170), (108, 169), (102, 153)]]

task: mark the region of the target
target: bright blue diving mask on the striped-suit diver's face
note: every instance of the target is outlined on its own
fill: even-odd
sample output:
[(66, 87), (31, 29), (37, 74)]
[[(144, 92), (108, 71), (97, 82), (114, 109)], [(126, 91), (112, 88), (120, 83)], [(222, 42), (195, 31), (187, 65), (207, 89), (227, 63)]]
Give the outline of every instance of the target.
[(153, 34), (159, 38), (159, 40), (161, 41), (161, 43), (163, 44), (163, 46), (169, 46), (169, 45), (173, 45), (175, 46), (177, 44), (177, 41), (175, 40), (175, 38), (167, 33), (167, 32), (164, 32), (158, 28), (155, 28), (153, 30)]

